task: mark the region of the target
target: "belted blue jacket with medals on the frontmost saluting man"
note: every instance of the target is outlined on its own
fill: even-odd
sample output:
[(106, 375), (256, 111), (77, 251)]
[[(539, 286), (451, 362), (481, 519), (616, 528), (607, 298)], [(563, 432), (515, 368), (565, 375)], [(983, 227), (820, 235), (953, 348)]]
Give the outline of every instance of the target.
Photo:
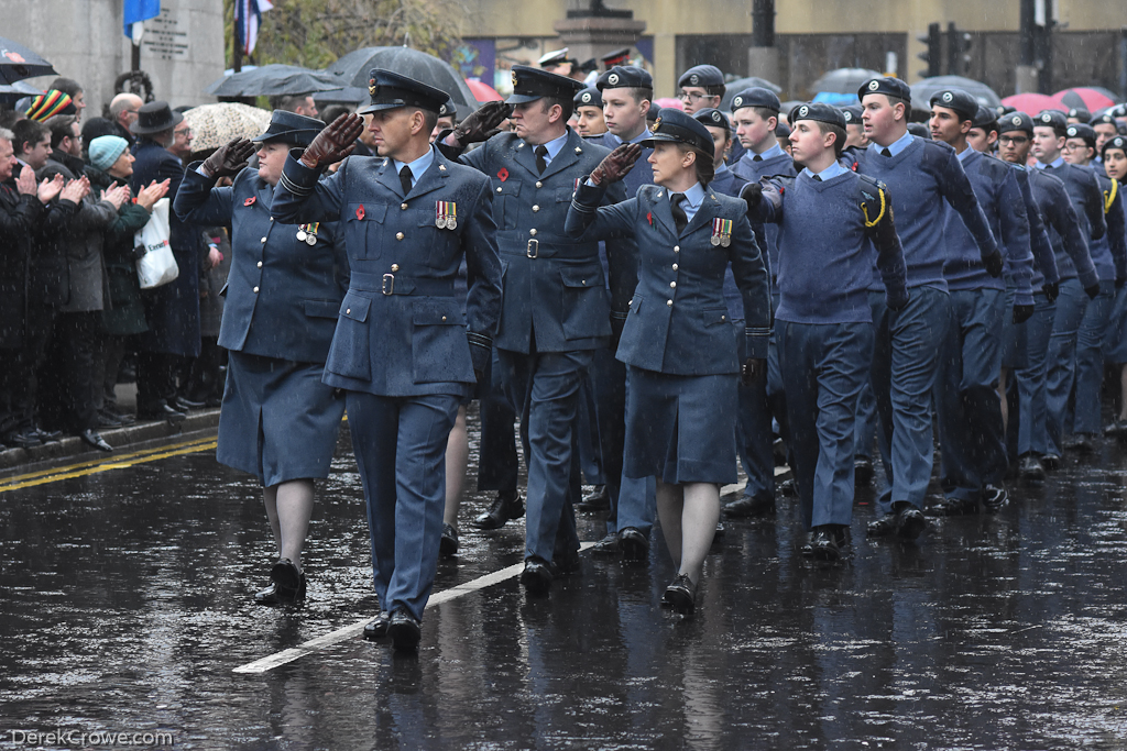
[[(291, 155), (272, 213), (279, 222), (339, 222), (344, 231), (352, 277), (325, 382), (381, 396), (462, 395), (486, 368), (500, 314), (489, 181), (442, 153), (406, 196), (393, 164), (379, 158), (352, 157), (318, 176)], [(436, 226), (441, 202), (456, 207), (452, 230)], [(454, 296), (463, 254), (464, 314)]]

